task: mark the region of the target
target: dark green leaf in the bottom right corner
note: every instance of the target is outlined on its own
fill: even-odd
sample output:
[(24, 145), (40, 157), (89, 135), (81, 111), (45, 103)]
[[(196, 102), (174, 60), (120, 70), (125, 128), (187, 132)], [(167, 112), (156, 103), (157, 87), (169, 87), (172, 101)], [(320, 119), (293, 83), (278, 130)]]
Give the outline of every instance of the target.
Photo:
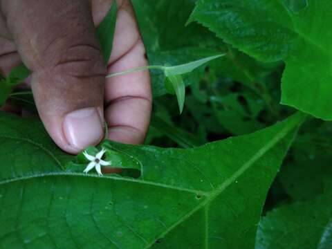
[(332, 248), (332, 198), (284, 205), (261, 219), (256, 249)]

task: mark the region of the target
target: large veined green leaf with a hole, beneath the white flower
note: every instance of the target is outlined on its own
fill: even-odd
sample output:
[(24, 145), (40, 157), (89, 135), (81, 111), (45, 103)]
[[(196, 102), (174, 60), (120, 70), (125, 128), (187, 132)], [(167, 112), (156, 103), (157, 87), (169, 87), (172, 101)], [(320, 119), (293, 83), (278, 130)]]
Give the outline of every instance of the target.
[(140, 178), (129, 178), (82, 174), (86, 165), (73, 167), (41, 123), (0, 113), (0, 246), (254, 248), (303, 118), (194, 149), (105, 142), (140, 165)]

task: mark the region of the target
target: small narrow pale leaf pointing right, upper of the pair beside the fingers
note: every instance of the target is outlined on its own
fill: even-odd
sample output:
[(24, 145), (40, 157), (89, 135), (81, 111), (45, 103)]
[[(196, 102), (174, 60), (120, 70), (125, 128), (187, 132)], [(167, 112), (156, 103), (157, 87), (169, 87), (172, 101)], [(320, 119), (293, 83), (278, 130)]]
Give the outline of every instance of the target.
[(203, 64), (212, 61), (213, 59), (219, 58), (224, 56), (225, 54), (222, 55), (214, 55), (210, 56), (207, 58), (199, 59), (196, 60), (195, 62), (190, 62), (187, 64), (182, 64), (178, 66), (165, 66), (165, 76), (173, 76), (173, 75), (183, 75), (185, 73), (190, 73), (192, 72), (195, 68), (198, 68), (199, 66), (202, 66)]

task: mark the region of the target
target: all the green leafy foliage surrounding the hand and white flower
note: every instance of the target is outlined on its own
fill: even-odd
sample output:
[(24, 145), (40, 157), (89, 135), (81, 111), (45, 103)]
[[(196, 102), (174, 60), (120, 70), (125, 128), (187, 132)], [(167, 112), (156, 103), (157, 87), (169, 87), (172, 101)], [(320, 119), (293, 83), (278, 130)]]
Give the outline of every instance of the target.
[[(150, 66), (108, 77), (150, 71), (145, 145), (88, 147), (121, 171), (84, 174), (38, 118), (0, 111), (0, 248), (332, 248), (332, 2), (132, 3)], [(36, 111), (29, 74), (0, 77), (0, 105)]]

